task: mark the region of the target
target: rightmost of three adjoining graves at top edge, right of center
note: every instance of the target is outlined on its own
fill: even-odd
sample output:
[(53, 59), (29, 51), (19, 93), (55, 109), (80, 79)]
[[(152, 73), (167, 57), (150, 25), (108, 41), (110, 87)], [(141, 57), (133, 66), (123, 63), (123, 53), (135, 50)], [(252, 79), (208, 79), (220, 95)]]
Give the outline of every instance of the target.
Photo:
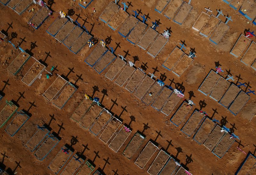
[(180, 10), (178, 11), (177, 15), (173, 18), (173, 21), (181, 25), (184, 22), (184, 20), (187, 18), (188, 13), (191, 11), (192, 8), (193, 8), (192, 5), (184, 2), (180, 6)]

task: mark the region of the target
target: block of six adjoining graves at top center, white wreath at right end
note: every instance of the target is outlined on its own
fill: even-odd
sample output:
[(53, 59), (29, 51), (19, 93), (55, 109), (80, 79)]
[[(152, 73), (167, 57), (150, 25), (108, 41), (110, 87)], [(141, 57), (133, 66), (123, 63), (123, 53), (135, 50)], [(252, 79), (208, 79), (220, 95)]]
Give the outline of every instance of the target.
[(118, 4), (110, 2), (99, 19), (108, 24), (113, 30), (120, 26), (118, 33), (122, 37), (126, 38), (133, 45), (138, 45), (141, 49), (148, 50), (147, 53), (155, 58), (169, 41), (169, 31), (159, 34), (156, 31), (156, 22), (153, 23), (152, 27), (148, 28), (148, 25), (145, 23), (147, 20), (145, 16), (141, 16), (143, 18), (141, 21), (138, 18), (137, 11), (133, 11), (135, 13), (134, 16), (129, 15), (126, 12), (126, 4), (123, 4), (124, 8), (120, 8)]

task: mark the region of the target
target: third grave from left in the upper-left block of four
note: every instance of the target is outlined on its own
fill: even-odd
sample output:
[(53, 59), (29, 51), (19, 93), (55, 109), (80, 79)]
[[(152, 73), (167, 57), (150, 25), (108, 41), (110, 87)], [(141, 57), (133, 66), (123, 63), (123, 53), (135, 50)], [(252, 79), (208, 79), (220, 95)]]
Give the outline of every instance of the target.
[[(63, 44), (67, 46), (69, 49), (74, 44), (76, 39), (83, 33), (83, 29), (81, 29), (79, 26), (76, 26), (71, 30), (71, 32), (67, 35), (67, 37), (63, 40)], [(88, 40), (87, 40), (88, 41)]]

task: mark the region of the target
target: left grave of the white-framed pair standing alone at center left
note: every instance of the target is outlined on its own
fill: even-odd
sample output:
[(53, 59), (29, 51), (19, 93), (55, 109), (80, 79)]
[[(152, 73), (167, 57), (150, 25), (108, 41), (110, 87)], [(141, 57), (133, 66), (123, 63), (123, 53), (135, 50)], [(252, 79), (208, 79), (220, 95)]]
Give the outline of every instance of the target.
[(67, 80), (64, 80), (62, 77), (58, 75), (58, 77), (53, 81), (51, 86), (46, 89), (43, 96), (48, 100), (52, 101), (52, 99), (59, 94), (61, 89), (67, 85)]

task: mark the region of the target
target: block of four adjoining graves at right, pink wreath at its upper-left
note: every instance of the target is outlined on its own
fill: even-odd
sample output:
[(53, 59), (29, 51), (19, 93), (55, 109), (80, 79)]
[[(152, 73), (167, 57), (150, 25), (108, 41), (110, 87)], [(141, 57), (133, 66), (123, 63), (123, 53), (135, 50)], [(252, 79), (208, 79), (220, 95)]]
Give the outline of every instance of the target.
[(254, 95), (255, 93), (249, 88), (248, 92), (242, 90), (241, 87), (246, 87), (245, 83), (239, 82), (239, 85), (236, 85), (228, 80), (234, 79), (230, 76), (225, 79), (218, 71), (210, 70), (199, 86), (198, 91), (206, 96), (209, 95), (236, 116), (250, 99), (249, 94), (252, 93)]

